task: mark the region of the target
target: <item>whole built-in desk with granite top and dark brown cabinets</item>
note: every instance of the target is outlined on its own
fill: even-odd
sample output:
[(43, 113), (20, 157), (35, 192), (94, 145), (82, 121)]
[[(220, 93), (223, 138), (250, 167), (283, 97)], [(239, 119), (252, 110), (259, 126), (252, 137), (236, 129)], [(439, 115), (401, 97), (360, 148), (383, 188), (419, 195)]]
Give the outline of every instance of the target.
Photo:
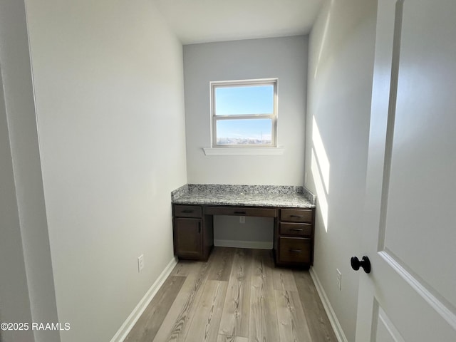
[(315, 197), (304, 187), (184, 185), (172, 192), (174, 252), (207, 260), (214, 215), (273, 217), (274, 260), (309, 267), (314, 261)]

